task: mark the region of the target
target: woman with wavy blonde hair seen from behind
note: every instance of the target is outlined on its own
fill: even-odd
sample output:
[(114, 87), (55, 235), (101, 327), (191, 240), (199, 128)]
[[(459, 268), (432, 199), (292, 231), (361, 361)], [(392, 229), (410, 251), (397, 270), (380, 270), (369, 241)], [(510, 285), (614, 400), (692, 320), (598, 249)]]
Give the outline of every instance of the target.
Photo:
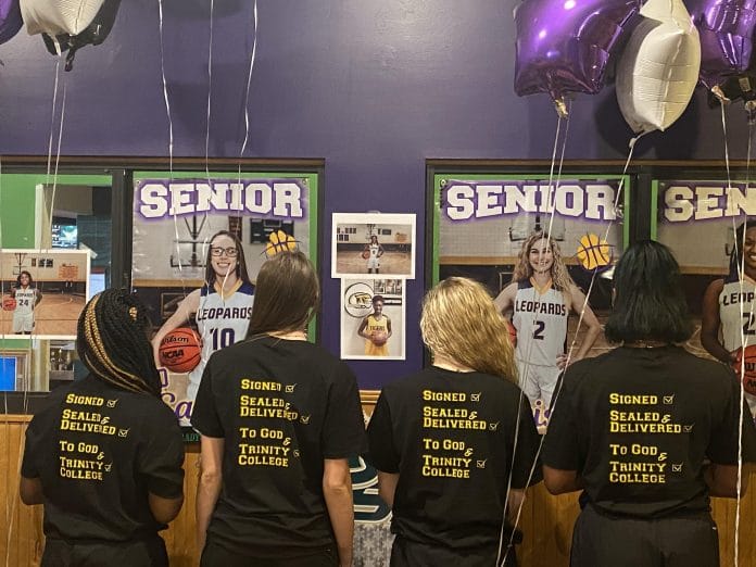
[(420, 330), (432, 365), (383, 387), (368, 426), (391, 566), (516, 565), (505, 511), (541, 477), (506, 323), (483, 286), (449, 278), (426, 295)]

